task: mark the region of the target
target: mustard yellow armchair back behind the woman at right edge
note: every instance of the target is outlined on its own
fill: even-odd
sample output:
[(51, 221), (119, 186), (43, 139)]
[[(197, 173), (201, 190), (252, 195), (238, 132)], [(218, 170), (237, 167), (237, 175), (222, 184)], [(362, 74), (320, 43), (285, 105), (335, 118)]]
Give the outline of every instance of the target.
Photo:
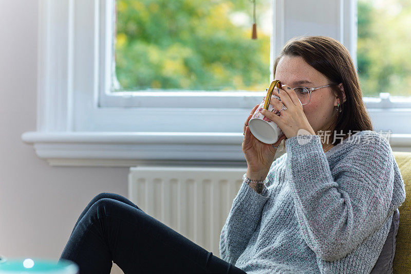
[(394, 152), (405, 185), (405, 201), (398, 208), (400, 223), (394, 255), (394, 273), (411, 273), (411, 152)]

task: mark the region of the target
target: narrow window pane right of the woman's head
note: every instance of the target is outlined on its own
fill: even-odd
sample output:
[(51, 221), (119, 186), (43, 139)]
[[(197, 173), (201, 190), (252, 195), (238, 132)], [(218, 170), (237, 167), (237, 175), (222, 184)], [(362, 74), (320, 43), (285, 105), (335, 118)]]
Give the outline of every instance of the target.
[(357, 3), (357, 65), (364, 96), (411, 96), (411, 2)]

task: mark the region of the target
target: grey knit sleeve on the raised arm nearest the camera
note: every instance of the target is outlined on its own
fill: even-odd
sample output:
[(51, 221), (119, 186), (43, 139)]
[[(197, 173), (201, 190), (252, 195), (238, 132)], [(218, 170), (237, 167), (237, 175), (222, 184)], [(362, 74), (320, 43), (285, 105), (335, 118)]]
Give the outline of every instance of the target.
[(333, 169), (335, 178), (319, 136), (286, 141), (297, 222), (307, 245), (324, 261), (345, 257), (388, 217), (394, 188), (390, 145), (373, 131), (356, 135), (348, 140), (352, 150)]

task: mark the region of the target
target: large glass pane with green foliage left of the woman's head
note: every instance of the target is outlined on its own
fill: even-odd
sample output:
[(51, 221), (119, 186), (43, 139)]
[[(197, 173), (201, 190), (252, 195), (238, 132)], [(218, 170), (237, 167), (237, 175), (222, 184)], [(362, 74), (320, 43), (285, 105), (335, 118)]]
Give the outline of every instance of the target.
[(265, 91), (271, 0), (117, 0), (114, 90)]

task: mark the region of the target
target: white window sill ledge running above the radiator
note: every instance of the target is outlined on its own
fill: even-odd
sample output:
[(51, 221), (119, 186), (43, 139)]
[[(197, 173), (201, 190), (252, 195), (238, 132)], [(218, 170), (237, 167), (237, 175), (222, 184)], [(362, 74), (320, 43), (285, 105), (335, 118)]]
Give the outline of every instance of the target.
[[(241, 133), (26, 132), (22, 140), (51, 166), (184, 165), (247, 167)], [(391, 134), (393, 151), (411, 152), (411, 134)]]

